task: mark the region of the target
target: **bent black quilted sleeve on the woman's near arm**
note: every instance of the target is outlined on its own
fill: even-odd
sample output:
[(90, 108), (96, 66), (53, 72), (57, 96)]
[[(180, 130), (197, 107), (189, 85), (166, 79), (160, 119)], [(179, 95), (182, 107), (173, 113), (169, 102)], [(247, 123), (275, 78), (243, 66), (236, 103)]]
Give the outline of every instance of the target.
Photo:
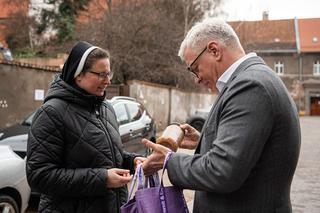
[(29, 130), (26, 172), (31, 188), (55, 196), (98, 196), (107, 193), (106, 169), (64, 168), (63, 115), (41, 107)]

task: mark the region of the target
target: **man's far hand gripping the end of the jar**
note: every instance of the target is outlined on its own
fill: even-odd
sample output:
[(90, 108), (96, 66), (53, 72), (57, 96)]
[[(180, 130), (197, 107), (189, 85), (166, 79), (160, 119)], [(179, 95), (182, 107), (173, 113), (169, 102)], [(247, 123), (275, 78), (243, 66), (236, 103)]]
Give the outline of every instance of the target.
[(183, 149), (197, 148), (200, 133), (189, 124), (181, 124), (180, 127), (184, 130), (184, 138), (179, 147)]

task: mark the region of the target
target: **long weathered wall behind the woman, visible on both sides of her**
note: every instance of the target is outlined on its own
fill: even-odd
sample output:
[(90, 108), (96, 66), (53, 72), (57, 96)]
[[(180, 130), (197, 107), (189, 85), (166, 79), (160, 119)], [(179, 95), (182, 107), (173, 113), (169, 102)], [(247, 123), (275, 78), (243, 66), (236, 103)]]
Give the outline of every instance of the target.
[[(41, 106), (39, 92), (45, 97), (59, 69), (20, 62), (0, 61), (0, 128), (21, 122)], [(128, 85), (110, 85), (107, 98), (126, 95), (137, 98), (154, 117), (158, 129), (169, 123), (185, 122), (197, 108), (211, 106), (215, 96), (209, 93), (187, 93), (172, 87), (141, 81)]]

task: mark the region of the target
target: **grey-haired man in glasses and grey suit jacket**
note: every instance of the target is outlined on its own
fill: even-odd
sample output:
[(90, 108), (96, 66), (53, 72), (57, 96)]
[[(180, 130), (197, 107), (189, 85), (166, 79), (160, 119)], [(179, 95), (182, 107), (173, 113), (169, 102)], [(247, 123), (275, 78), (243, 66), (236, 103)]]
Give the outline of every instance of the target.
[[(196, 151), (172, 155), (171, 183), (196, 190), (193, 212), (291, 212), (300, 126), (282, 81), (255, 53), (245, 54), (227, 23), (213, 18), (191, 28), (179, 56), (198, 83), (219, 95), (201, 135), (181, 125), (181, 147)], [(154, 150), (143, 164), (150, 175), (169, 150), (143, 143)]]

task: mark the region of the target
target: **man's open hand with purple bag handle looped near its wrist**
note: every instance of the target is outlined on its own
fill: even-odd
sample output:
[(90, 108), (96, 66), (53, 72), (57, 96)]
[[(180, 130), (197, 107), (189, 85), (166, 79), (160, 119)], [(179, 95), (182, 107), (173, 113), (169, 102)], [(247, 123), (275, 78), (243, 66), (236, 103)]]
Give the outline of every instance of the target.
[(158, 170), (162, 169), (164, 159), (171, 150), (160, 144), (155, 144), (147, 139), (142, 139), (142, 143), (153, 149), (153, 153), (142, 163), (142, 168), (145, 176), (151, 176)]

